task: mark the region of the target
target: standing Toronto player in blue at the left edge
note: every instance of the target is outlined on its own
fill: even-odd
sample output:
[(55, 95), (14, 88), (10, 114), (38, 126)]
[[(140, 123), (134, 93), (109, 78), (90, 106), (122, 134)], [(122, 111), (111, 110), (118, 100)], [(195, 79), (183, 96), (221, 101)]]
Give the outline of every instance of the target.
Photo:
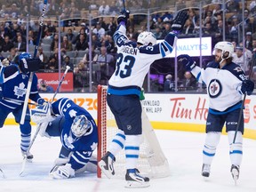
[[(0, 66), (0, 84), (2, 84), (2, 97), (0, 98), (0, 128), (4, 126), (6, 117), (12, 113), (16, 123), (20, 124), (23, 103), (25, 100), (29, 72), (35, 72), (40, 67), (41, 60), (32, 59), (27, 52), (20, 53), (15, 64), (10, 66)], [(34, 74), (29, 99), (38, 104), (45, 101), (37, 92), (37, 76)], [(22, 155), (26, 154), (30, 144), (31, 125), (29, 110), (27, 108), (25, 123), (20, 124), (21, 142), (20, 149)], [(28, 159), (33, 156), (28, 154)]]

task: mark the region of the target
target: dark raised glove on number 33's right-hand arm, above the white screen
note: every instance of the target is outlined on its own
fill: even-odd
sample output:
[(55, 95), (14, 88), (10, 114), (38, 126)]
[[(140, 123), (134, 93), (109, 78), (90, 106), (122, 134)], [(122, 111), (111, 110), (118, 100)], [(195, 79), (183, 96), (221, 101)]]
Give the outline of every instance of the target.
[(183, 30), (186, 20), (188, 20), (188, 11), (182, 10), (178, 12), (172, 23), (172, 32), (179, 34)]

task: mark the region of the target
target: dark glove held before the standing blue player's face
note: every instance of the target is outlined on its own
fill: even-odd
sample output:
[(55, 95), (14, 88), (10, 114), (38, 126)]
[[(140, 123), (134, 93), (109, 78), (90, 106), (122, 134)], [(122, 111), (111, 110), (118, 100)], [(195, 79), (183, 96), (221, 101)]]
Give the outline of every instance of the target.
[(22, 73), (36, 72), (39, 70), (41, 62), (39, 58), (22, 59), (19, 63), (20, 70)]

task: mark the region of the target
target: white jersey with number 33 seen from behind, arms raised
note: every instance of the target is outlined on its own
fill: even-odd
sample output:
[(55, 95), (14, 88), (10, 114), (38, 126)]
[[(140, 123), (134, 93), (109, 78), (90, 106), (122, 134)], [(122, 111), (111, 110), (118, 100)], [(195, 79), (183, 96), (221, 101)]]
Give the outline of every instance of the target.
[(148, 73), (150, 65), (170, 54), (177, 36), (169, 33), (162, 43), (153, 46), (140, 46), (130, 41), (126, 28), (119, 25), (113, 38), (117, 46), (116, 70), (108, 81), (108, 93), (116, 95), (137, 94)]

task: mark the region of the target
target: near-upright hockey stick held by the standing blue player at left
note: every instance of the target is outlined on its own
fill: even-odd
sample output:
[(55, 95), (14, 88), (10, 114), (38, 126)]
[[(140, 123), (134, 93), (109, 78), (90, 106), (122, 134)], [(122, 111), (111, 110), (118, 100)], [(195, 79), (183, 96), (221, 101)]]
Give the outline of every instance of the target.
[[(46, 11), (46, 6), (47, 6), (47, 0), (44, 0), (44, 6), (43, 6), (43, 10), (42, 10), (42, 15), (41, 15), (41, 18), (40, 18), (40, 28), (39, 28), (38, 36), (37, 36), (37, 39), (36, 39), (34, 58), (36, 58), (36, 54), (37, 54), (37, 50), (38, 50), (38, 46), (39, 46), (39, 41), (40, 41), (41, 36), (42, 36), (43, 25), (44, 25), (44, 14), (45, 14), (45, 11)], [(33, 76), (34, 76), (34, 72), (30, 72), (30, 75), (29, 75), (29, 78), (28, 78), (27, 92), (26, 92), (26, 96), (25, 96), (25, 100), (24, 100), (24, 105), (23, 105), (23, 108), (22, 108), (21, 117), (20, 117), (20, 124), (24, 124), (24, 121), (25, 121), (26, 111), (27, 111), (27, 108), (28, 108), (28, 97), (29, 97), (29, 94), (30, 94), (31, 86), (32, 86)]]

